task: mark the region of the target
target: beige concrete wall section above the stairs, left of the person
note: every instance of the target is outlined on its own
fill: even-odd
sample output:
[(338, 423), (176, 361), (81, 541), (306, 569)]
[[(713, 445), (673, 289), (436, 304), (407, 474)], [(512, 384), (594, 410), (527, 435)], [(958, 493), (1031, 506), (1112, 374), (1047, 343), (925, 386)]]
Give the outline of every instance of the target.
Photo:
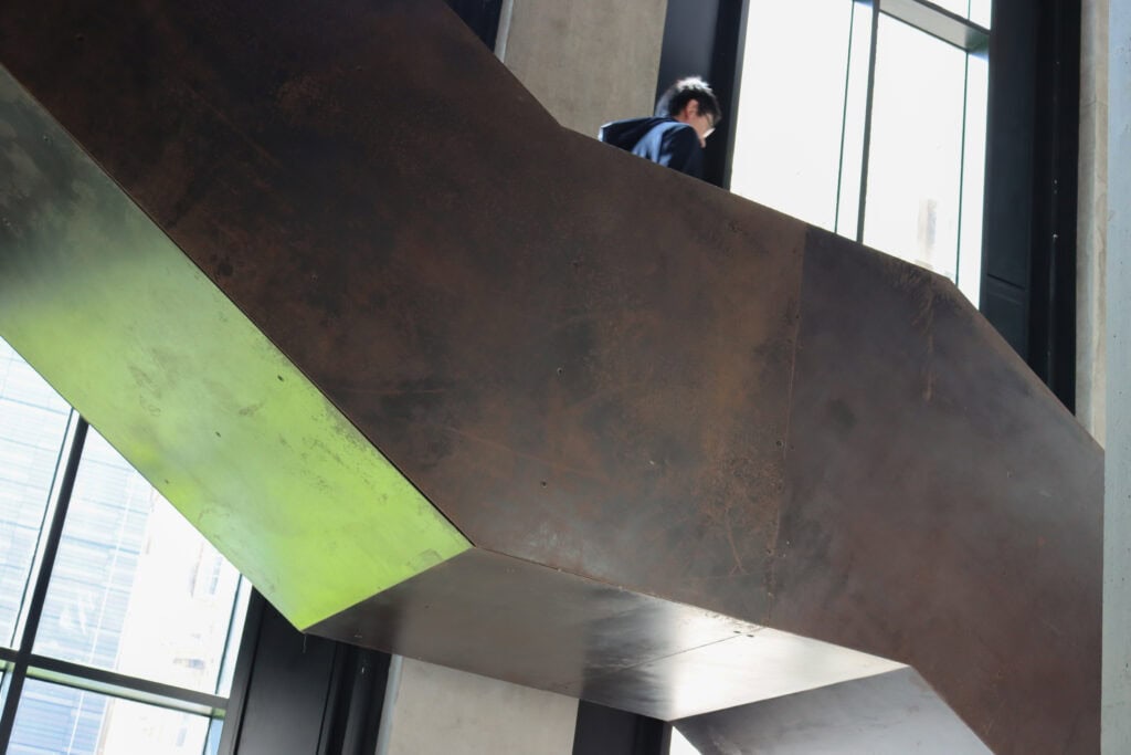
[(667, 0), (512, 0), (497, 50), (562, 126), (596, 136), (651, 114), (666, 12)]

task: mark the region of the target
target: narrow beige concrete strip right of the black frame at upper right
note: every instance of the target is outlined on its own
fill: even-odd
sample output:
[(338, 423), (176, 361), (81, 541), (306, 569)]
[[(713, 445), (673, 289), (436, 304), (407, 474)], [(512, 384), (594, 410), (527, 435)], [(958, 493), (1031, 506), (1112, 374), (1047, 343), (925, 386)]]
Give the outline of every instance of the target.
[(1080, 168), (1077, 221), (1076, 414), (1104, 444), (1107, 384), (1104, 269), (1107, 258), (1107, 5), (1082, 0)]

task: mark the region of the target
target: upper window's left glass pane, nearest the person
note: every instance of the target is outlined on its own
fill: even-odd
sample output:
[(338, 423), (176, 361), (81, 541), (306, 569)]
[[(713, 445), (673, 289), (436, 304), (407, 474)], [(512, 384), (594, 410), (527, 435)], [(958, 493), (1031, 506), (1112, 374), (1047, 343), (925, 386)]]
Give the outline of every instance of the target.
[(852, 12), (852, 0), (752, 0), (735, 114), (731, 189), (830, 230)]

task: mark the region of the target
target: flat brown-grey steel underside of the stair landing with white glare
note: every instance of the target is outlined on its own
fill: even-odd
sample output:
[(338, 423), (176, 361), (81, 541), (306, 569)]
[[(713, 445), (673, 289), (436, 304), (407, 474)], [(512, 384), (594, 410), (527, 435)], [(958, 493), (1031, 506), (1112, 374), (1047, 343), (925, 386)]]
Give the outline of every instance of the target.
[(901, 667), (482, 548), (310, 632), (662, 720)]

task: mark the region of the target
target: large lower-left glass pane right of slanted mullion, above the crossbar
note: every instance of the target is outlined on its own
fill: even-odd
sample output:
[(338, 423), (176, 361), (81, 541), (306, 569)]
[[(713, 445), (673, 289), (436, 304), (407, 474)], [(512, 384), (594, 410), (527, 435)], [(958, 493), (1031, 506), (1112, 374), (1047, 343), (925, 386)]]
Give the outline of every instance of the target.
[(236, 570), (95, 432), (35, 652), (213, 692)]

